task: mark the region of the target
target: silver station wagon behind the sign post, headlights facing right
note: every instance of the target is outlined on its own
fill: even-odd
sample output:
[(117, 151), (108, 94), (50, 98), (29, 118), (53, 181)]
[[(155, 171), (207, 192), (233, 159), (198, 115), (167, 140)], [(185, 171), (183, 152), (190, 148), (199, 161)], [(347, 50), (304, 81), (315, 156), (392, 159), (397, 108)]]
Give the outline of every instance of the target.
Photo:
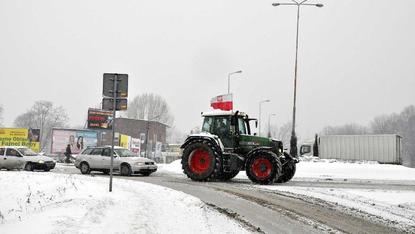
[[(91, 171), (110, 173), (111, 146), (88, 147), (75, 158), (75, 167), (81, 170), (82, 174), (89, 174)], [(149, 176), (157, 170), (157, 164), (148, 158), (139, 157), (131, 150), (114, 146), (113, 170), (118, 171), (122, 176), (141, 174)]]

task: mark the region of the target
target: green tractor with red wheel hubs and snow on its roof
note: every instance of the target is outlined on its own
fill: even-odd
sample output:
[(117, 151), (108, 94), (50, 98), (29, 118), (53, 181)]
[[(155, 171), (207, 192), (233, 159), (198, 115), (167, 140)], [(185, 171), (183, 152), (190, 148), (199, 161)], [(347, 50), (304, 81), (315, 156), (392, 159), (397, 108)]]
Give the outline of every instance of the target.
[(203, 112), (202, 132), (191, 134), (180, 147), (182, 169), (193, 181), (226, 181), (245, 170), (256, 184), (285, 183), (298, 159), (284, 152), (283, 142), (251, 135), (248, 118), (236, 111)]

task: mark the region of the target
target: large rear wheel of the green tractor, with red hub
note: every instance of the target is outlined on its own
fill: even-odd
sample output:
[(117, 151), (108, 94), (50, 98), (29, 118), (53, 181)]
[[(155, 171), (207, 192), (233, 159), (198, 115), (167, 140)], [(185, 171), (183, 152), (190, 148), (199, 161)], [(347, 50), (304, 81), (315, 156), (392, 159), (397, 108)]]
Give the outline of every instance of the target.
[(206, 140), (195, 140), (183, 150), (183, 172), (194, 181), (211, 181), (222, 171), (218, 150)]

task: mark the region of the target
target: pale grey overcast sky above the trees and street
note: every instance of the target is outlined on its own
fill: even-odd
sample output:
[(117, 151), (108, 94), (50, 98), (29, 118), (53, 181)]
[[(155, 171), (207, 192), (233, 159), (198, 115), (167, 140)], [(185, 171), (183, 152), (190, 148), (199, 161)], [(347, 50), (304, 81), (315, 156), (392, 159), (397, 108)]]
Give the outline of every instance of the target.
[[(84, 125), (103, 73), (129, 75), (129, 99), (163, 96), (184, 132), (228, 90), (262, 133), (292, 120), (297, 7), (265, 0), (1, 0), (4, 125), (36, 100)], [(280, 3), (292, 3), (281, 0)], [(308, 0), (301, 6), (297, 134), (366, 125), (415, 104), (415, 1)], [(258, 132), (258, 130), (257, 130)]]

